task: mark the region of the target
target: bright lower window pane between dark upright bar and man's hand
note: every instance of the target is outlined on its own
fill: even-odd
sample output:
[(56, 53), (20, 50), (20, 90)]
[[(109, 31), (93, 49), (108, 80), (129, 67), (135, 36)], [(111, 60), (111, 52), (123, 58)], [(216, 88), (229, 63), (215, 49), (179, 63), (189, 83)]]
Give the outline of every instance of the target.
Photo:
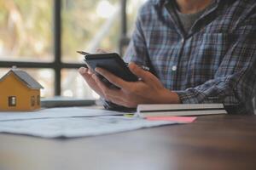
[(98, 99), (99, 96), (91, 90), (77, 69), (61, 71), (61, 96), (81, 99)]

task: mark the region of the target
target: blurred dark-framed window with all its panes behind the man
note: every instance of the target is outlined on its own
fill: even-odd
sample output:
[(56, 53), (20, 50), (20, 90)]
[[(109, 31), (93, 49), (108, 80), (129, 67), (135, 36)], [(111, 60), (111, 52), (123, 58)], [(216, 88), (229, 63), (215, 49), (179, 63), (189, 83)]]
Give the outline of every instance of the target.
[(145, 1), (0, 0), (0, 77), (16, 65), (44, 86), (42, 97), (97, 99), (76, 51), (124, 54)]

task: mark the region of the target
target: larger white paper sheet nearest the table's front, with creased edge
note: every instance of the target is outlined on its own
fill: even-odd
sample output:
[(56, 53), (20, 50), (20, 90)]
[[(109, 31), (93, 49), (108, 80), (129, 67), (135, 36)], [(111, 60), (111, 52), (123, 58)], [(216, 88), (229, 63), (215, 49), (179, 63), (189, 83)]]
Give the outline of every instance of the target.
[(95, 116), (32, 119), (0, 122), (0, 133), (17, 133), (43, 138), (75, 138), (131, 131), (177, 122), (147, 121), (138, 117)]

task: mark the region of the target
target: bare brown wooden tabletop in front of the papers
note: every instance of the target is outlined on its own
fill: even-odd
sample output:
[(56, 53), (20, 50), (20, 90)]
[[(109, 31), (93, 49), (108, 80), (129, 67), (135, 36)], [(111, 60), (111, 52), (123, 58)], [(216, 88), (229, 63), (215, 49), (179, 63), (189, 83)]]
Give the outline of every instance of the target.
[(79, 139), (0, 134), (1, 170), (256, 169), (256, 116)]

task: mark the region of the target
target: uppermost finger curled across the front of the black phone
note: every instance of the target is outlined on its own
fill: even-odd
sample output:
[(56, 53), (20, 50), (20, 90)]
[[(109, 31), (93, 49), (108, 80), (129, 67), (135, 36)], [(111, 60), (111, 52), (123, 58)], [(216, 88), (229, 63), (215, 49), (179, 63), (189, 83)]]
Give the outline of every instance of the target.
[(109, 82), (113, 83), (113, 85), (119, 88), (127, 88), (128, 82), (125, 82), (123, 79), (114, 76), (111, 72), (106, 71), (102, 68), (96, 68), (96, 72), (101, 74), (103, 77), (107, 78)]

